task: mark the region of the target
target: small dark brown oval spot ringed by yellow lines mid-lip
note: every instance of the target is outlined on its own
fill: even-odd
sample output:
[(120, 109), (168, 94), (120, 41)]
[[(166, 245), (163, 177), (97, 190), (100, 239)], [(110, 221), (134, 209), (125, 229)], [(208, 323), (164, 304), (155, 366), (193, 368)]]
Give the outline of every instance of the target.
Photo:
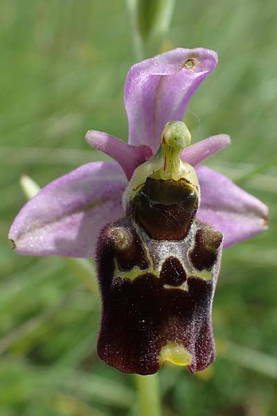
[(168, 257), (161, 267), (160, 279), (163, 284), (180, 286), (186, 281), (186, 272), (176, 257)]

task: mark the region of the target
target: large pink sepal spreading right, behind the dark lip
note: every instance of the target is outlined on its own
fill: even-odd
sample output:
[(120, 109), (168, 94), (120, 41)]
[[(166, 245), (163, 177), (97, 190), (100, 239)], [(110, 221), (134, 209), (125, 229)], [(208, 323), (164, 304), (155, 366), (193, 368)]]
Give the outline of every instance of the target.
[(224, 248), (267, 229), (265, 204), (210, 168), (196, 170), (201, 192), (197, 218), (224, 234)]

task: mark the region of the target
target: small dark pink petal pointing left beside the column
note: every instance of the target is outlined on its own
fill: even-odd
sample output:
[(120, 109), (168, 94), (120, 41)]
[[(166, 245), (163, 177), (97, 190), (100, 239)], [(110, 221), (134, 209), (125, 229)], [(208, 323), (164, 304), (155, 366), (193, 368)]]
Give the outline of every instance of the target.
[(127, 179), (132, 177), (135, 168), (152, 156), (152, 150), (148, 146), (132, 146), (96, 130), (89, 130), (86, 140), (93, 148), (115, 159), (123, 168)]

